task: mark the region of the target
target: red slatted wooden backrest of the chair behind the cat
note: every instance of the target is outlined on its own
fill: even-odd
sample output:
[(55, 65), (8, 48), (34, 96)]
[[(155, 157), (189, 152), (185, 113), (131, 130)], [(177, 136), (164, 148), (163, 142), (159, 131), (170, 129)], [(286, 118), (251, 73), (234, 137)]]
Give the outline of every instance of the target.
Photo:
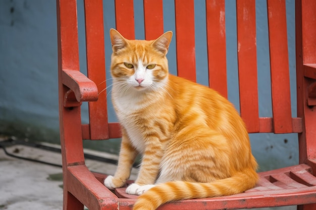
[[(308, 99), (310, 106), (316, 105), (315, 85), (311, 88), (309, 86), (314, 84), (311, 79), (307, 81), (309, 95), (307, 96), (304, 92), (307, 88), (304, 76), (316, 79), (315, 1), (308, 3), (305, 1), (303, 4), (301, 1), (296, 1), (295, 5), (296, 51), (298, 54), (296, 58), (297, 117), (293, 117), (291, 113), (285, 0), (267, 1), (273, 116), (259, 117), (255, 3), (256, 1), (252, 0), (236, 1), (238, 43), (236, 52), (238, 78), (236, 79), (239, 84), (240, 114), (249, 133), (304, 133), (299, 137), (305, 139), (307, 129), (305, 127), (307, 123), (305, 101)], [(59, 4), (63, 4), (59, 11), (61, 17), (60, 42), (62, 42), (59, 50), (62, 68), (79, 71), (76, 1), (60, 1)], [(128, 39), (135, 38), (133, 4), (133, 0), (115, 0), (116, 29)], [(176, 42), (177, 74), (180, 77), (196, 81), (194, 1), (175, 0), (174, 7), (175, 36), (173, 41)], [(205, 10), (209, 87), (227, 97), (225, 1), (206, 0)], [(143, 11), (145, 39), (151, 40), (159, 37), (164, 32), (163, 0), (144, 0)], [(100, 92), (106, 88), (104, 81), (106, 81), (106, 72), (109, 72), (109, 69), (106, 71), (105, 67), (102, 0), (85, 0), (84, 12), (88, 78), (97, 85)], [(310, 16), (314, 18), (312, 19)], [(111, 43), (105, 44), (106, 47), (111, 46)], [(304, 65), (304, 63), (308, 63), (308, 65)], [(303, 86), (304, 88), (302, 88)], [(316, 124), (308, 121), (308, 126), (308, 129), (311, 129), (312, 126), (316, 127)], [(107, 94), (99, 94), (97, 101), (89, 102), (89, 124), (82, 125), (82, 137), (84, 139), (108, 139), (120, 136), (119, 124), (108, 122)], [(306, 144), (306, 142), (301, 144)], [(310, 144), (313, 146), (311, 151), (316, 154), (316, 146), (314, 143)], [(306, 146), (300, 145), (300, 147)], [(306, 154), (303, 156), (309, 157)], [(304, 159), (303, 156), (300, 158)], [(316, 155), (313, 157), (316, 158)]]

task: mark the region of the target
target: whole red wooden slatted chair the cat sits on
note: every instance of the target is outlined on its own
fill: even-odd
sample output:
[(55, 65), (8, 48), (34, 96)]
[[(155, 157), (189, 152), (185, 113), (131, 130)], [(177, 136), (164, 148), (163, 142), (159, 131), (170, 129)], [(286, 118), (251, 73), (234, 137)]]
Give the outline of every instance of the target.
[[(255, 1), (237, 0), (240, 112), (249, 133), (298, 133), (299, 165), (260, 173), (257, 187), (244, 193), (176, 201), (159, 209), (237, 209), (298, 205), (316, 209), (316, 1), (297, 0), (297, 117), (292, 117), (285, 0), (268, 0), (273, 117), (259, 117), (256, 67)], [(134, 38), (133, 0), (116, 0), (116, 28)], [(145, 38), (163, 30), (163, 1), (144, 0)], [(195, 80), (193, 0), (175, 1), (178, 76)], [(85, 0), (88, 77), (80, 73), (76, 0), (57, 0), (59, 107), (64, 173), (64, 209), (131, 209), (135, 197), (102, 184), (103, 174), (85, 166), (82, 139), (120, 137), (118, 123), (109, 123), (105, 87), (104, 31), (101, 0)], [(247, 18), (243, 15), (247, 11)], [(227, 96), (224, 1), (206, 1), (210, 87)], [(192, 33), (188, 33), (192, 32)], [(110, 45), (110, 43), (106, 43)], [(250, 49), (250, 50), (246, 50)], [(189, 53), (188, 53), (189, 52)], [(187, 71), (190, 69), (190, 71)], [(89, 124), (81, 123), (80, 105), (89, 102)]]

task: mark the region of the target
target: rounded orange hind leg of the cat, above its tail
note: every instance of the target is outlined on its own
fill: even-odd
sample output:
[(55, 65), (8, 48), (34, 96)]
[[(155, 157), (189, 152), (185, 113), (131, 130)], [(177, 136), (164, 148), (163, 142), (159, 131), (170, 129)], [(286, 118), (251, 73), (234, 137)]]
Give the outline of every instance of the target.
[(229, 177), (230, 147), (221, 133), (208, 127), (187, 127), (171, 140), (156, 184), (168, 181), (213, 182)]

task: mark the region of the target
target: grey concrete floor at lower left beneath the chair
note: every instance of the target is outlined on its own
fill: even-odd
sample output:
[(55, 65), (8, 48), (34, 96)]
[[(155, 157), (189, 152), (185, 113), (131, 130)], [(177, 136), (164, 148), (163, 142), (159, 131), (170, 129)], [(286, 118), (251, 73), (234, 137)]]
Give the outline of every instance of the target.
[[(59, 147), (50, 145), (52, 147)], [(19, 157), (61, 164), (59, 153), (24, 145), (7, 147), (10, 154)], [(85, 151), (100, 157), (115, 156)], [(114, 174), (116, 166), (99, 161), (86, 160), (90, 170)], [(136, 177), (133, 169), (131, 178)], [(0, 148), (0, 209), (6, 210), (61, 210), (63, 207), (62, 168), (9, 157)]]

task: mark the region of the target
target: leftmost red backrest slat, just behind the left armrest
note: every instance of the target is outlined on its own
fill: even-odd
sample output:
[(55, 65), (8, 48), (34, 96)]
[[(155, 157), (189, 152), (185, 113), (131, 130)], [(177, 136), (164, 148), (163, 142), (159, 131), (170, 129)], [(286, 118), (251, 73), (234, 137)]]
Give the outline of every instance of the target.
[[(99, 85), (106, 83), (104, 47), (100, 47), (104, 46), (102, 0), (85, 0), (84, 11), (88, 78)], [(97, 101), (89, 102), (89, 122), (91, 139), (109, 138), (107, 94), (100, 94)]]

